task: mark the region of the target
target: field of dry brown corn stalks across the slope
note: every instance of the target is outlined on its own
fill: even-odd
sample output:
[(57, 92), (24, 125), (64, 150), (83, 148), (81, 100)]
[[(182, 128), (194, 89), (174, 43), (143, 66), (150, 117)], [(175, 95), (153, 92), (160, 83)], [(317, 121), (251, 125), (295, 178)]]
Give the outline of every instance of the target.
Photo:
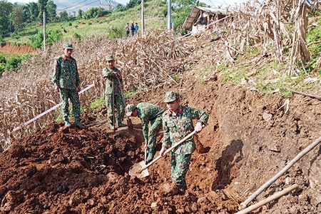
[[(253, 56), (257, 66), (266, 61), (288, 63), (288, 70), (283, 72), (295, 75), (300, 61), (310, 61), (306, 43), (307, 11), (318, 9), (318, 6), (318, 1), (277, 0), (263, 1), (262, 4), (247, 1), (228, 8), (226, 11), (230, 19), (220, 23), (225, 34), (210, 45), (211, 51), (207, 52), (210, 54), (202, 52), (210, 44), (210, 32), (177, 39), (170, 31), (157, 29), (126, 39), (111, 40), (92, 35), (81, 41), (71, 41), (81, 87), (95, 85), (81, 94), (81, 105), (88, 106), (91, 101), (103, 96), (101, 71), (107, 66), (105, 57), (109, 54), (116, 58), (116, 67), (123, 73), (125, 91), (146, 91), (160, 83), (181, 86), (185, 81), (183, 73), (190, 71), (192, 65), (233, 65), (238, 54), (245, 54), (253, 46), (261, 50)], [(283, 51), (285, 46), (290, 49), (289, 55)], [(17, 126), (61, 102), (51, 81), (54, 58), (61, 54), (62, 43), (54, 44), (41, 53), (41, 57), (23, 63), (18, 72), (5, 72), (0, 79), (2, 148), (10, 146), (10, 138), (36, 131), (57, 115), (58, 110), (51, 111), (29, 126), (13, 132)]]

